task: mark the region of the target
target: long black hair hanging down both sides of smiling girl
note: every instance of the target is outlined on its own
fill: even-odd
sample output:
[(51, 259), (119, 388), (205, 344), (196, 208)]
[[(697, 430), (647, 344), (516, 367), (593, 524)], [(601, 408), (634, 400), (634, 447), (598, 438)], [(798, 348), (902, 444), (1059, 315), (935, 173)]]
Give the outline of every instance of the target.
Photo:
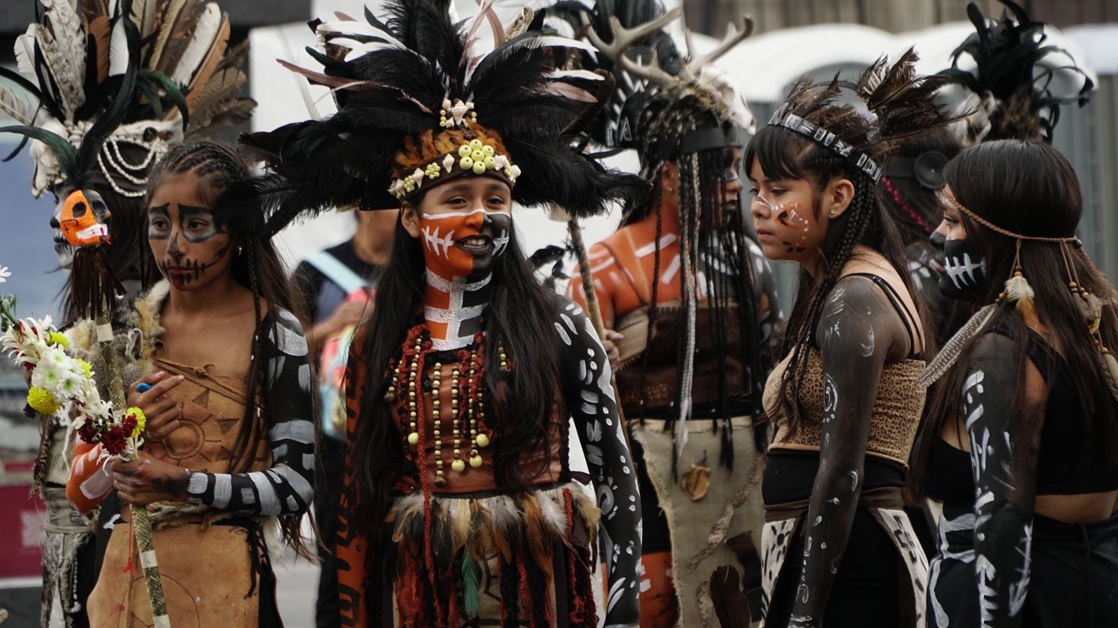
[[(562, 391), (553, 325), (558, 297), (536, 282), (517, 244), (515, 229), (509, 238), (505, 253), (494, 260), (485, 308), (484, 383), (496, 409), (493, 427), (500, 434), (493, 440), (496, 480), (515, 488), (532, 479), (521, 468), (524, 454), (549, 446), (551, 412)], [(357, 521), (352, 525), (370, 531), (373, 540), (379, 537), (392, 487), (404, 470), (404, 437), (383, 398), (386, 372), (408, 329), (421, 320), (425, 273), (420, 241), (398, 220), (392, 253), (377, 284), (372, 316), (350, 356), (364, 363), (366, 378), (360, 382), (352, 443), (353, 451), (362, 455), (352, 458), (352, 482), (347, 491), (352, 492), (349, 503), (354, 504)], [(510, 373), (501, 373), (499, 342), (513, 362)]]

